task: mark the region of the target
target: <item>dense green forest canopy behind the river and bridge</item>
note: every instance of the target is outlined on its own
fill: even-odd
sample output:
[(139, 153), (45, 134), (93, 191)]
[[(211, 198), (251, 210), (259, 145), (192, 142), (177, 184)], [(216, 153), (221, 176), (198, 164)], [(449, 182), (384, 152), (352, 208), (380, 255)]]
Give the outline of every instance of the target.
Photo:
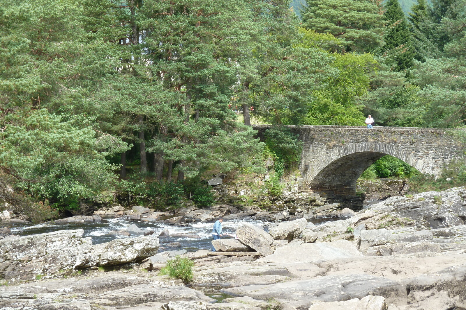
[(281, 125), (465, 126), (466, 0), (303, 2), (1, 1), (0, 184), (69, 207), (150, 176), (172, 197), (264, 152), (293, 167)]

